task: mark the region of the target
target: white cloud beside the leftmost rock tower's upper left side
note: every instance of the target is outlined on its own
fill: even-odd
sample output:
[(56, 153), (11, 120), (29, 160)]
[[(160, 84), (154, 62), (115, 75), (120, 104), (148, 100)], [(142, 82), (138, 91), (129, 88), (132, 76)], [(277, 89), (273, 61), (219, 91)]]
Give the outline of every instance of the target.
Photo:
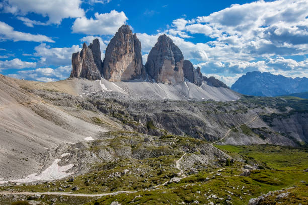
[(79, 45), (73, 45), (71, 47), (53, 48), (45, 43), (42, 43), (34, 48), (36, 51), (35, 56), (40, 57), (40, 65), (70, 65), (71, 55), (81, 50)]

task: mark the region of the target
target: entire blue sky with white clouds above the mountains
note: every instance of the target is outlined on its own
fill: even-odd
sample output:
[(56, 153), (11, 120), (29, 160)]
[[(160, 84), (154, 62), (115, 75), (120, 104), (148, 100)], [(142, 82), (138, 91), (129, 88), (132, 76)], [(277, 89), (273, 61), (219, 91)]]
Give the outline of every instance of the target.
[(166, 33), (206, 76), (232, 85), (259, 70), (308, 77), (308, 1), (1, 0), (0, 73), (65, 79), (71, 54), (94, 38), (102, 58), (128, 24), (147, 53)]

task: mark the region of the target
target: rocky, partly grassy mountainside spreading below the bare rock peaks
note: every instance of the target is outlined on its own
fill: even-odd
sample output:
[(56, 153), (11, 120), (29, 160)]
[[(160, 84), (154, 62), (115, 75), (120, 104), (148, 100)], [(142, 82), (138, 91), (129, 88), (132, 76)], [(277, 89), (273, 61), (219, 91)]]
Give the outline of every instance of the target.
[[(307, 181), (302, 170), (308, 166), (303, 147), (307, 104), (302, 99), (202, 100), (184, 97), (183, 87), (208, 91), (208, 85), (198, 88), (189, 82), (152, 83), (157, 90), (142, 98), (133, 83), (150, 82), (73, 79), (45, 84), (0, 77), (0, 204), (22, 199), (243, 204), (268, 191), (306, 188), (300, 182)], [(176, 97), (165, 98), (162, 90)], [(196, 90), (190, 93), (201, 97), (203, 91)], [(269, 151), (263, 155), (256, 145), (225, 147), (230, 144), (264, 144)], [(284, 158), (272, 155), (276, 152)], [(294, 162), (297, 166), (290, 165)], [(304, 201), (304, 195), (298, 197)]]

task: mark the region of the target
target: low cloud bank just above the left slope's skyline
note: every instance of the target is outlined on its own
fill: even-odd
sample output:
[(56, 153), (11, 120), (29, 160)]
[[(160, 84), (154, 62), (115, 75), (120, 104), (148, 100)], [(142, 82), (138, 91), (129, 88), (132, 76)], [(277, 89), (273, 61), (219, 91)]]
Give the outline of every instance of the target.
[(15, 77), (25, 80), (38, 80), (43, 82), (63, 80), (69, 77), (71, 66), (60, 66), (52, 68), (37, 68), (34, 70), (21, 70), (16, 74), (9, 74), (10, 77)]

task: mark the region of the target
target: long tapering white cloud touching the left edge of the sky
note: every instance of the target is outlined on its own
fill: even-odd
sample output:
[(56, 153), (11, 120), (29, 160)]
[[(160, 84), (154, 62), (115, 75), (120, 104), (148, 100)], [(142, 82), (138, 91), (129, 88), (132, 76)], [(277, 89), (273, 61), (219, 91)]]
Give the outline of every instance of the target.
[(10, 25), (0, 21), (0, 40), (54, 42), (51, 38), (40, 34), (29, 34), (15, 31)]

